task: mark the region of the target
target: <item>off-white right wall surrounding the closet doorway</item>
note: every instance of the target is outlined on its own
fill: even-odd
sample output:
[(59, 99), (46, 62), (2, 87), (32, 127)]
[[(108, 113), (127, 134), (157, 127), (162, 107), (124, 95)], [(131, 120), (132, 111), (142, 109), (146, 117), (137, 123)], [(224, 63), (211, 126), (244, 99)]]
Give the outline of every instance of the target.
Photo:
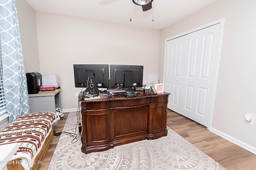
[[(158, 75), (163, 77), (165, 39), (225, 18), (212, 130), (256, 152), (256, 1), (218, 0), (160, 33)], [(254, 125), (245, 115), (254, 116)]]

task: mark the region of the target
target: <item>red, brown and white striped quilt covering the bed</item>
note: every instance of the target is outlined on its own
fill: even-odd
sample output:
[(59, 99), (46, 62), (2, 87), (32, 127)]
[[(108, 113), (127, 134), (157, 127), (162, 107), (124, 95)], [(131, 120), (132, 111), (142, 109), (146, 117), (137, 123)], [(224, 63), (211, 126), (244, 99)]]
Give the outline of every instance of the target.
[(24, 114), (0, 131), (0, 145), (18, 142), (19, 149), (12, 160), (21, 158), (24, 166), (32, 167), (56, 120), (55, 112)]

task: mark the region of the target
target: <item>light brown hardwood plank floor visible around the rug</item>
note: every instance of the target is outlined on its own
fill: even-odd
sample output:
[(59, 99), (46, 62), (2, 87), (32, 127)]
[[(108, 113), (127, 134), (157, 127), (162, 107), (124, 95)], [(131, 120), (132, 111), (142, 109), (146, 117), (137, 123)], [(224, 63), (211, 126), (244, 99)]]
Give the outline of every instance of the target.
[[(68, 113), (60, 119), (56, 132), (61, 132)], [(204, 126), (168, 109), (167, 126), (228, 170), (256, 170), (256, 154), (210, 132)], [(47, 170), (59, 137), (54, 136), (39, 170)]]

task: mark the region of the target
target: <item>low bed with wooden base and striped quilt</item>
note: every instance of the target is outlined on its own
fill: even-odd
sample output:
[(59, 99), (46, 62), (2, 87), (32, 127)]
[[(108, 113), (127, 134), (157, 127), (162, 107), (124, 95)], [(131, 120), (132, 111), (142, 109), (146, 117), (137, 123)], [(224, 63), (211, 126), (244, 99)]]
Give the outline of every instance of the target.
[(37, 170), (53, 138), (55, 112), (28, 113), (0, 131), (0, 145), (18, 142), (19, 149), (7, 163), (10, 170)]

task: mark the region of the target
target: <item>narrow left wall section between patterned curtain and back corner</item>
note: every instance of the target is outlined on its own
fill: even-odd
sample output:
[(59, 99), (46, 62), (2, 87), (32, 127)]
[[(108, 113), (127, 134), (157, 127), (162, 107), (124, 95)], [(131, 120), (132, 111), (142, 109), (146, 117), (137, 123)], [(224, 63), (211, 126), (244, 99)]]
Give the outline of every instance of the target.
[(26, 73), (40, 72), (35, 11), (25, 0), (16, 0)]

